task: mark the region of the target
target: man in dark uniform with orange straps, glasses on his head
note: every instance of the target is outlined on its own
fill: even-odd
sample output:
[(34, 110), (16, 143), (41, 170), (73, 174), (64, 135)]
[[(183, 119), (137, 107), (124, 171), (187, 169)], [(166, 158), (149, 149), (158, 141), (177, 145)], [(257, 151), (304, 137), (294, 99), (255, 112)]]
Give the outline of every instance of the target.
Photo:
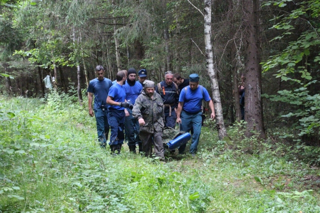
[(176, 108), (178, 107), (179, 94), (178, 86), (172, 82), (173, 74), (167, 71), (164, 74), (164, 80), (159, 82), (155, 91), (161, 95), (164, 104), (164, 126), (174, 128), (176, 119)]

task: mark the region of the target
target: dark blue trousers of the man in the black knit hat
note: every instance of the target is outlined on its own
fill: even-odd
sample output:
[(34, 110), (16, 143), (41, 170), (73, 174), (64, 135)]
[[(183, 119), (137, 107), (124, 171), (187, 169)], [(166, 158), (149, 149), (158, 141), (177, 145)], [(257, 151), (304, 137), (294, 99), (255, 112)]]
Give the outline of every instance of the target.
[[(127, 108), (126, 110), (129, 112), (129, 116), (125, 117), (125, 122), (124, 122), (125, 134), (127, 135), (128, 146), (130, 145), (135, 146), (136, 142), (141, 142), (139, 138), (140, 125), (139, 125), (139, 121), (137, 121), (132, 116), (132, 110), (129, 108)], [(136, 136), (134, 136), (134, 134)]]

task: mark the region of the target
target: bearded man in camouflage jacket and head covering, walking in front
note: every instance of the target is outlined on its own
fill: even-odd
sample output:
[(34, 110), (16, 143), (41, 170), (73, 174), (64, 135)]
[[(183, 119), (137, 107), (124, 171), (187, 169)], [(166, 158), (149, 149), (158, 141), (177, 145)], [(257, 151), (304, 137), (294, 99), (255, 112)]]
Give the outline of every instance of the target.
[(164, 127), (164, 111), (161, 96), (154, 91), (154, 82), (143, 81), (143, 89), (135, 99), (132, 115), (140, 124), (140, 140), (145, 156), (151, 157), (152, 137), (155, 156), (164, 158), (162, 129)]

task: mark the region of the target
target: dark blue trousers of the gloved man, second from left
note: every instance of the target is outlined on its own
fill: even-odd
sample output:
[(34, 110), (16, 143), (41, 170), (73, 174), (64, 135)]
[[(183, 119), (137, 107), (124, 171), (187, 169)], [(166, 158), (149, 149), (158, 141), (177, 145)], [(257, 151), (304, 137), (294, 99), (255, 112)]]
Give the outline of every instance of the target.
[(111, 129), (109, 145), (123, 144), (124, 110), (108, 109), (108, 121)]

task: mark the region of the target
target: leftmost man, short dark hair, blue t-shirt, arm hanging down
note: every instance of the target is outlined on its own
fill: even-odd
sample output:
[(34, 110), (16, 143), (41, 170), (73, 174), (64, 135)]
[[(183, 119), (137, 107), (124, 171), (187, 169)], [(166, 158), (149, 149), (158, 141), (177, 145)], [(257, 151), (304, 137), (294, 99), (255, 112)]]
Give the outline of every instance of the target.
[[(109, 92), (109, 88), (112, 86), (112, 82), (110, 79), (104, 77), (104, 69), (101, 65), (97, 65), (95, 67), (95, 74), (97, 75), (97, 78), (94, 78), (89, 82), (89, 86), (86, 90), (88, 92), (89, 115), (91, 117), (95, 115), (98, 140), (100, 146), (105, 148), (106, 140), (109, 134), (109, 123), (107, 118), (108, 104), (105, 102), (105, 100)], [(93, 94), (94, 106), (92, 110)]]

